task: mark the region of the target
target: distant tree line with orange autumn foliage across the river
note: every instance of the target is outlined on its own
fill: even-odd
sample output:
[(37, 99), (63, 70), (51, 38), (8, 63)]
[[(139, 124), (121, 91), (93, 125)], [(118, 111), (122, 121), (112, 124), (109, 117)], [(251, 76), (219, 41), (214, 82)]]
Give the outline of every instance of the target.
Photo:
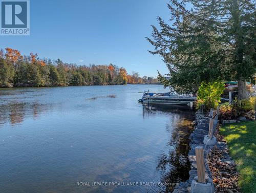
[(50, 87), (68, 85), (115, 85), (154, 83), (153, 77), (128, 75), (115, 65), (77, 66), (60, 59), (39, 59), (37, 54), (23, 56), (18, 50), (0, 50), (0, 87)]

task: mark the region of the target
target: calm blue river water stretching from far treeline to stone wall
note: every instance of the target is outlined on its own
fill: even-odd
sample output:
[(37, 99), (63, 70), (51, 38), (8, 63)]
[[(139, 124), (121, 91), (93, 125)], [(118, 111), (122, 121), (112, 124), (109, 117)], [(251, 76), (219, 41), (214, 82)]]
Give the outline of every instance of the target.
[(0, 89), (0, 192), (170, 192), (188, 178), (193, 112), (144, 109), (148, 89), (164, 91)]

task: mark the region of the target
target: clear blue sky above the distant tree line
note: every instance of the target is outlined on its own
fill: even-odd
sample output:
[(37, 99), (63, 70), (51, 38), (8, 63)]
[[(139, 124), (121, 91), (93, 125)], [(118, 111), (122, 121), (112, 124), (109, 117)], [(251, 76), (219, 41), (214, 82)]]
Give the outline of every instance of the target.
[[(30, 36), (0, 36), (0, 48), (77, 65), (114, 63), (128, 73), (156, 76), (166, 66), (145, 36), (157, 16), (169, 19), (165, 0), (30, 1)], [(83, 60), (83, 61), (80, 61)]]

